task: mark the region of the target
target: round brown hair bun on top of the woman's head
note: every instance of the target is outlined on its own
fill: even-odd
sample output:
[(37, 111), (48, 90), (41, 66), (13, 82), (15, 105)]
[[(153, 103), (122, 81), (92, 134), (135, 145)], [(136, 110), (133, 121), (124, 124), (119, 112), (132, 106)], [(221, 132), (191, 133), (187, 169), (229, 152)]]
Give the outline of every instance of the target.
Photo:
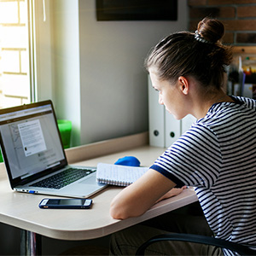
[(224, 25), (219, 20), (205, 18), (198, 23), (197, 31), (202, 38), (217, 43), (224, 36)]

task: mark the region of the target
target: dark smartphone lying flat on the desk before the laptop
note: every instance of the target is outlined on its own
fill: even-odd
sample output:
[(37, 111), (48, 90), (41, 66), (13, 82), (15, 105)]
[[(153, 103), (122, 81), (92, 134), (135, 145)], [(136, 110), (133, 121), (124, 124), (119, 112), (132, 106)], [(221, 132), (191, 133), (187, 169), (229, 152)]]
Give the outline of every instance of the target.
[(40, 208), (51, 209), (89, 209), (92, 200), (85, 198), (64, 198), (64, 199), (49, 199), (44, 198), (40, 203)]

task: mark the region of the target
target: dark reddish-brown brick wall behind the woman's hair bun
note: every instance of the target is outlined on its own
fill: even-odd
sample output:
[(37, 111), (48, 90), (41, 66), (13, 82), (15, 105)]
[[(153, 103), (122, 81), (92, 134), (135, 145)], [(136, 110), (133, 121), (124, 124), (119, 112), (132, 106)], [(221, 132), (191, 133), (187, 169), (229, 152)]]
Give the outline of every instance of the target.
[(188, 0), (189, 30), (206, 16), (224, 23), (224, 44), (256, 45), (256, 0)]

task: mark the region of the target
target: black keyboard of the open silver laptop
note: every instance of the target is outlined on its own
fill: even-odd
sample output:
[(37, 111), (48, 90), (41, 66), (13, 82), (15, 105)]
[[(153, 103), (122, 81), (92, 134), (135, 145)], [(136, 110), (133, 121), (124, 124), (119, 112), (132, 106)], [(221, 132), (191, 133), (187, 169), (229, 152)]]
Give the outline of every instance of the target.
[(37, 183), (33, 183), (31, 186), (47, 189), (61, 189), (92, 172), (96, 172), (96, 170), (69, 168)]

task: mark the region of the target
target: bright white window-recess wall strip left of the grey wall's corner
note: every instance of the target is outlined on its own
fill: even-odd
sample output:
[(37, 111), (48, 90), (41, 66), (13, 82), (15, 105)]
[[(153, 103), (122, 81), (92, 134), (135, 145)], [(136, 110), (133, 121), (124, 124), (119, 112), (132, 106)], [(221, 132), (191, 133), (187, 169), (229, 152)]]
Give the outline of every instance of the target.
[(79, 1), (54, 0), (51, 4), (55, 110), (58, 119), (72, 121), (72, 145), (76, 146), (81, 127)]

